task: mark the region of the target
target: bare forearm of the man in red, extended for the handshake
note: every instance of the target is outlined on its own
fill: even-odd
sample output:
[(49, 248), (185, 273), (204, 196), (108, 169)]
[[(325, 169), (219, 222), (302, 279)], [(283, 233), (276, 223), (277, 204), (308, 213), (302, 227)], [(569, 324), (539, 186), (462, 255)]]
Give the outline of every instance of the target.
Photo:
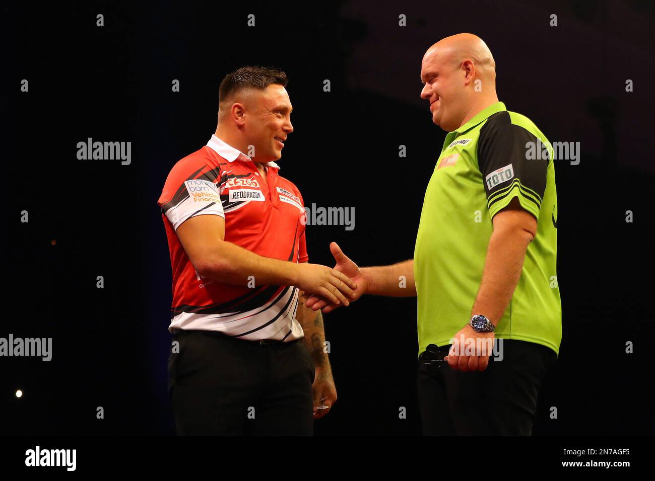
[[(221, 241), (216, 251), (195, 266), (204, 277), (234, 285), (296, 285), (297, 265), (269, 257), (262, 257), (231, 242)], [(253, 276), (253, 277), (250, 277)]]

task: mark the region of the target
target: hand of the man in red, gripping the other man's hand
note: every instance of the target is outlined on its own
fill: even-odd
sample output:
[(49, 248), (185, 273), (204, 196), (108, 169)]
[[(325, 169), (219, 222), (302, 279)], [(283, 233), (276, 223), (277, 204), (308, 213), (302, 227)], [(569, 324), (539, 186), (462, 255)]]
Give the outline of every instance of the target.
[[(354, 289), (357, 288), (355, 281), (341, 271), (330, 269), (320, 264), (297, 264), (298, 283), (301, 291), (319, 294), (322, 298), (329, 300), (330, 304), (348, 306), (348, 298), (356, 299)], [(316, 310), (316, 309), (314, 309)]]

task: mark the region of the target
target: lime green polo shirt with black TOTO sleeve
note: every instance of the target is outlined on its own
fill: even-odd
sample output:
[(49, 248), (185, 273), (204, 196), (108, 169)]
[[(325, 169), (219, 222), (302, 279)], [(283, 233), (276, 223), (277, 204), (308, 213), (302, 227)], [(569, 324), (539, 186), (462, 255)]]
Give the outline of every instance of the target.
[(553, 149), (529, 118), (502, 102), (446, 135), (428, 183), (414, 252), (419, 355), (428, 344), (451, 344), (470, 319), (491, 221), (513, 198), (536, 217), (537, 232), (496, 338), (542, 344), (559, 355)]

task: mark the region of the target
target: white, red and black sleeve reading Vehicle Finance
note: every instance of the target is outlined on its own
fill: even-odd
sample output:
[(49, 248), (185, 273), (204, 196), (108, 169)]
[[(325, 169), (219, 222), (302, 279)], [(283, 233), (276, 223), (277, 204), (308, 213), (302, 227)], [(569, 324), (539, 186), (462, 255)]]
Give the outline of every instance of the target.
[(168, 174), (157, 204), (174, 230), (187, 219), (197, 215), (220, 215), (225, 219), (219, 188), (221, 178), (216, 169), (179, 161)]

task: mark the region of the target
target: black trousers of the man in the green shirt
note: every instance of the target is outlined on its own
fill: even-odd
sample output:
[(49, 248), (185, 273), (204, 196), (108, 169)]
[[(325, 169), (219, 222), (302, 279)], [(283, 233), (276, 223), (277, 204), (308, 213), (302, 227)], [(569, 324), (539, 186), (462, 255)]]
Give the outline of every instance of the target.
[[(450, 346), (443, 346), (445, 353)], [(552, 349), (502, 340), (502, 361), (483, 371), (419, 366), (419, 404), (426, 436), (531, 436), (539, 387), (557, 360)]]

